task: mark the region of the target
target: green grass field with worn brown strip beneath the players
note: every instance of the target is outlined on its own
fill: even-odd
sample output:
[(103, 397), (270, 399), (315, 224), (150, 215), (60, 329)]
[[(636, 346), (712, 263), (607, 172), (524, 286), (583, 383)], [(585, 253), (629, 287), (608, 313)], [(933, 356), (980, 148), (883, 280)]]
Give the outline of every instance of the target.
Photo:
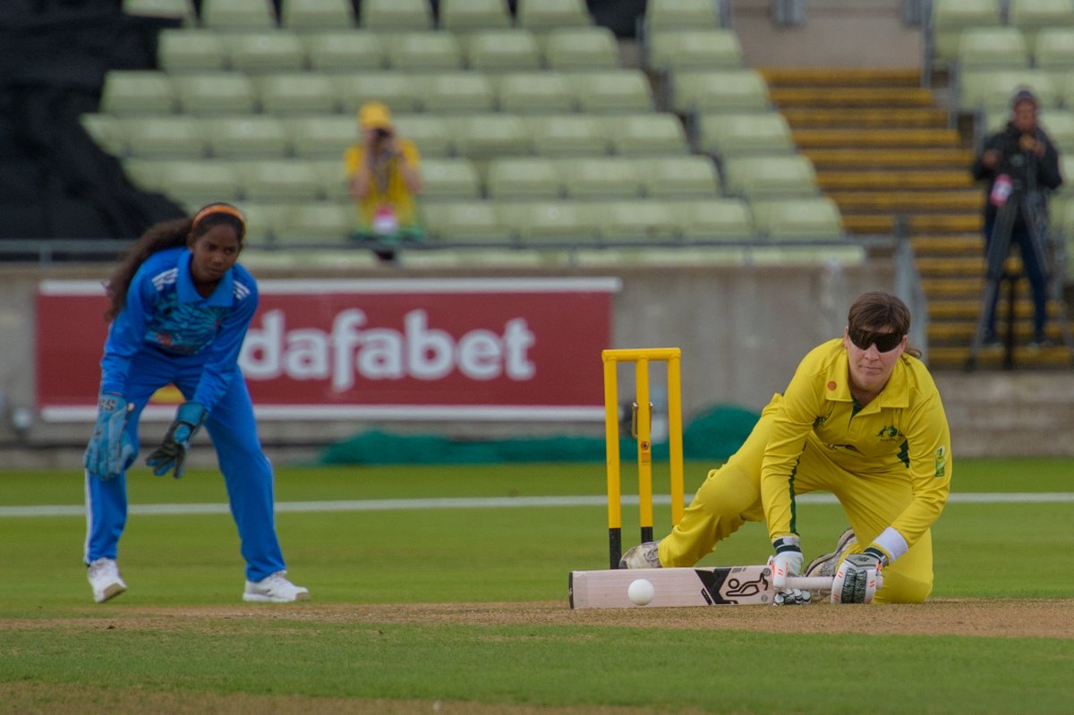
[[(705, 470), (687, 465), (687, 492)], [(1074, 492), (1070, 461), (961, 459), (956, 470), (956, 493)], [(176, 482), (139, 469), (129, 492), (132, 505), (226, 500), (211, 470)], [(82, 494), (78, 472), (0, 473), (0, 507), (77, 506)], [(277, 475), (281, 504), (603, 494), (600, 464)], [(948, 614), (963, 601), (1039, 599), (1017, 603), (1074, 619), (1072, 509), (948, 505), (924, 607), (672, 609), (673, 621), (567, 610), (567, 572), (606, 566), (600, 506), (281, 511), (290, 573), (314, 600), (268, 607), (240, 600), (226, 513), (132, 513), (120, 544), (130, 590), (102, 605), (81, 565), (84, 516), (0, 515), (0, 712), (1068, 713), (1069, 623), (1055, 634), (969, 634), (992, 616)], [(633, 543), (636, 508), (624, 519)], [(657, 520), (667, 524), (667, 507)], [(816, 502), (799, 522), (807, 556), (845, 525), (837, 505)], [(748, 524), (705, 563), (767, 554), (764, 529)], [(817, 616), (814, 632), (792, 632)], [(966, 628), (890, 627), (938, 616)]]

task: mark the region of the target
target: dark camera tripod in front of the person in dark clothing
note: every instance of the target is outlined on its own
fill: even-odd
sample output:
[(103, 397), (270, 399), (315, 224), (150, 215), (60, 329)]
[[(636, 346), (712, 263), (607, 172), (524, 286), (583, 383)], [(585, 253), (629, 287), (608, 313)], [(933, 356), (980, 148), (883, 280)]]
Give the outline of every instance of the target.
[[(996, 214), (996, 222), (992, 224), (992, 234), (988, 242), (988, 252), (986, 254), (987, 267), (985, 269), (985, 287), (981, 297), (981, 315), (977, 318), (977, 326), (973, 333), (973, 342), (970, 345), (970, 356), (966, 361), (966, 369), (972, 370), (977, 366), (977, 353), (984, 341), (985, 330), (991, 317), (992, 303), (996, 301), (1000, 290), (1000, 281), (1006, 278), (1010, 281), (1010, 295), (1007, 302), (1007, 320), (1005, 339), (1003, 341), (1003, 366), (1007, 369), (1014, 367), (1014, 320), (1015, 320), (1015, 279), (1017, 276), (1005, 276), (1003, 264), (1011, 251), (1011, 234), (1014, 231), (1018, 213), (1021, 211), (1022, 219), (1029, 233), (1029, 246), (1022, 245), (1021, 249), (1032, 250), (1035, 254), (1037, 265), (1044, 271), (1046, 281), (1046, 293), (1049, 300), (1055, 301), (1059, 306), (1056, 322), (1059, 324), (1063, 345), (1074, 363), (1074, 340), (1071, 338), (1070, 329), (1066, 322), (1066, 305), (1062, 300), (1061, 277), (1051, 266), (1047, 254), (1047, 228), (1043, 216), (1044, 196), (1034, 191), (1017, 191), (1010, 196), (1006, 203), (999, 207)], [(1056, 300), (1058, 298), (1058, 300)]]

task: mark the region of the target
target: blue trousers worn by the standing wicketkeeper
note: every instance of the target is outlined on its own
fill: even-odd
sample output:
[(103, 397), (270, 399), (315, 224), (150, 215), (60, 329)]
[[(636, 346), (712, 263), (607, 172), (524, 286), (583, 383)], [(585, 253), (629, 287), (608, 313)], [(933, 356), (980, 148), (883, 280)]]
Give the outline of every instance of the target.
[[(139, 443), (139, 418), (149, 397), (160, 388), (175, 384), (190, 399), (201, 378), (203, 362), (200, 355), (175, 358), (151, 352), (133, 358), (124, 394), (134, 406), (127, 423), (133, 444)], [(246, 560), (246, 578), (261, 581), (282, 570), (285, 565), (276, 538), (272, 464), (261, 449), (253, 404), (241, 375), (213, 407), (205, 428), (213, 439), (228, 487), (231, 514), (238, 527), (241, 552)], [(116, 558), (127, 523), (126, 472), (107, 481), (86, 473), (86, 563)]]

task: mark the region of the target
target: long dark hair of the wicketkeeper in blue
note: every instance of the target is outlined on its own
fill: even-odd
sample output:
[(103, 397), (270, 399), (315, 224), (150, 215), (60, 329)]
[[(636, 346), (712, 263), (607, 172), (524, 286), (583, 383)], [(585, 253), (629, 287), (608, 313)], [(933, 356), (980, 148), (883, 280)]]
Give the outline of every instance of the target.
[(197, 218), (172, 219), (149, 227), (127, 251), (104, 284), (110, 302), (104, 319), (114, 320), (122, 311), (127, 305), (127, 290), (139, 266), (145, 263), (146, 259), (165, 248), (186, 246), (191, 238), (197, 240), (209, 229), (221, 223), (235, 229), (238, 243), (242, 245), (246, 235), (246, 221), (238, 209), (231, 204), (208, 204), (198, 211)]

